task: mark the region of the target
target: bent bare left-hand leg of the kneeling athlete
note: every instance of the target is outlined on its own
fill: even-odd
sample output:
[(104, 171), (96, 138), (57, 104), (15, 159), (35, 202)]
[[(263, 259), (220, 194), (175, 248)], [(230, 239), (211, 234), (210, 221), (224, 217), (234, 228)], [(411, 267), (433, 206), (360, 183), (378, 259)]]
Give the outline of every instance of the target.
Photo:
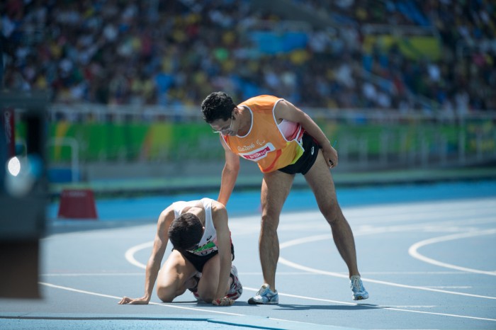
[(173, 250), (157, 277), (157, 295), (163, 302), (171, 302), (182, 295), (191, 278), (198, 273), (191, 262), (186, 260), (177, 250)]

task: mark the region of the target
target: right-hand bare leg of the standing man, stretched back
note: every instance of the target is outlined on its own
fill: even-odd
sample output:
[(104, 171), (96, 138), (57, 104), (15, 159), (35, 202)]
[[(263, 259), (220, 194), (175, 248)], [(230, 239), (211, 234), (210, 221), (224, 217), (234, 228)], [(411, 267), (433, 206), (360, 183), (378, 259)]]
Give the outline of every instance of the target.
[(348, 266), (349, 276), (360, 275), (356, 263), (353, 232), (351, 232), (351, 227), (349, 227), (349, 223), (337, 203), (334, 181), (322, 156), (322, 151), (319, 151), (315, 164), (305, 174), (305, 179), (312, 188), (320, 212), (331, 225), (334, 244)]

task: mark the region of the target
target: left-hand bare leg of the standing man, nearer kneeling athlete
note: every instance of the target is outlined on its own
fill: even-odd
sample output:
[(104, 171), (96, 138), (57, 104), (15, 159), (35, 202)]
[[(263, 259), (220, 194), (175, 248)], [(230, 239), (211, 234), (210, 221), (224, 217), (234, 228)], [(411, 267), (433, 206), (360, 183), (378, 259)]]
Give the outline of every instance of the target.
[(279, 258), (277, 227), (279, 216), (293, 185), (294, 174), (274, 171), (264, 174), (261, 183), (261, 229), (259, 255), (264, 282), (276, 290), (276, 268)]

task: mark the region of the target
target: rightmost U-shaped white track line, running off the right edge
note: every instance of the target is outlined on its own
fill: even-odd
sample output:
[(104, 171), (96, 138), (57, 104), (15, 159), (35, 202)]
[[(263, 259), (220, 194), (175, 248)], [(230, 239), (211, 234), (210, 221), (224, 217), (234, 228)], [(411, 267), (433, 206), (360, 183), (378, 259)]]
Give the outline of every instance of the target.
[(413, 258), (416, 258), (420, 261), (424, 261), (426, 263), (431, 263), (432, 265), (436, 265), (439, 267), (451, 268), (451, 269), (456, 269), (458, 271), (466, 271), (466, 272), (470, 272), (470, 273), (478, 273), (478, 274), (496, 276), (496, 271), (480, 271), (479, 269), (456, 266), (456, 265), (452, 265), (451, 263), (443, 263), (441, 261), (434, 260), (433, 258), (428, 258), (427, 256), (424, 256), (424, 255), (420, 254), (419, 251), (417, 251), (422, 246), (427, 246), (430, 244), (436, 244), (436, 243), (439, 243), (441, 241), (452, 241), (454, 239), (464, 239), (464, 238), (468, 238), (468, 237), (476, 237), (476, 236), (491, 235), (491, 234), (496, 234), (496, 229), (487, 229), (487, 230), (477, 231), (477, 232), (463, 232), (460, 234), (452, 234), (452, 235), (441, 236), (441, 237), (433, 237), (432, 239), (425, 239), (424, 241), (419, 241), (419, 242), (413, 244), (412, 246), (410, 246), (410, 249), (408, 249), (408, 254), (410, 254), (410, 256), (412, 256)]

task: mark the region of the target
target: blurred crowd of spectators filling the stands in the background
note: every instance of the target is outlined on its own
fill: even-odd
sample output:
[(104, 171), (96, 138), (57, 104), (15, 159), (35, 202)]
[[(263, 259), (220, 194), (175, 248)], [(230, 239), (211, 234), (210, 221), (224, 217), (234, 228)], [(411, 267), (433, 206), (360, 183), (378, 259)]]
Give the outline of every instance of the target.
[[(4, 89), (56, 103), (198, 106), (223, 90), (300, 107), (496, 109), (494, 1), (293, 1), (339, 29), (307, 28), (305, 47), (266, 53), (254, 31), (291, 28), (248, 0), (5, 0)], [(378, 23), (428, 27), (441, 59), (366, 50), (363, 25)]]

